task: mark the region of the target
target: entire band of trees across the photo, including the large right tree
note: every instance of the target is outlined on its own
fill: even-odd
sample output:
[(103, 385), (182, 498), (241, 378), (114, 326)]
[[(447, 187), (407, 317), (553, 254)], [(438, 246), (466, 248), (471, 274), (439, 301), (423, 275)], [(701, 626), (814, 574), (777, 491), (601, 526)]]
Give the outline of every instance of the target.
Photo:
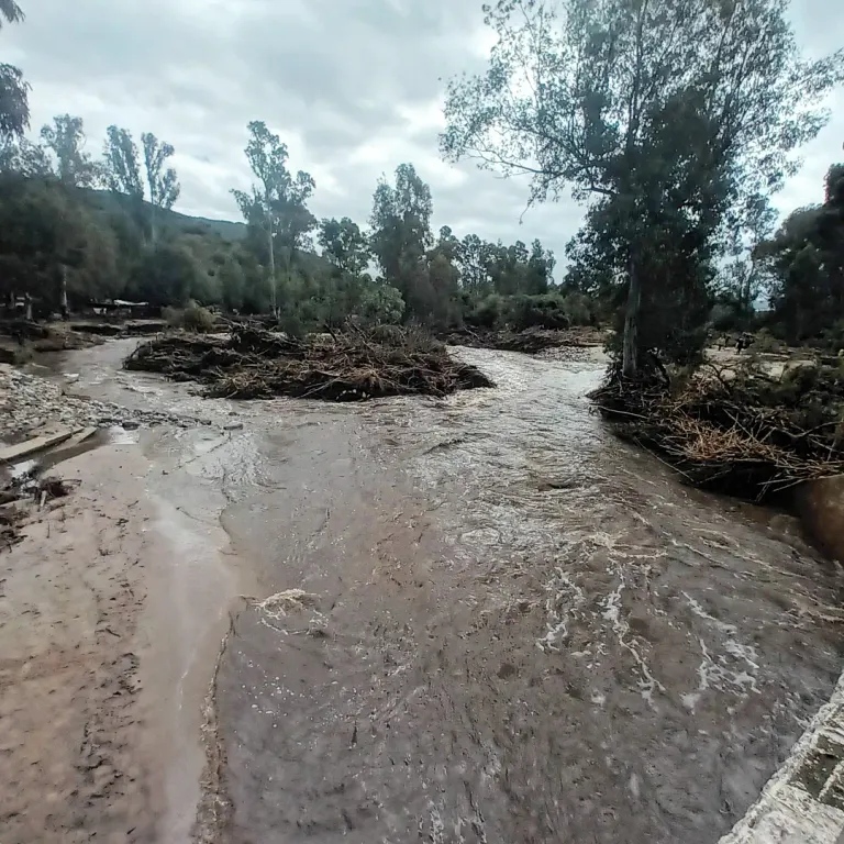
[[(242, 237), (173, 213), (174, 148), (111, 126), (86, 152), (80, 118), (23, 137), (26, 87), (0, 73), (0, 285), (51, 308), (121, 296), (273, 312), (291, 327), (366, 321), (565, 325), (614, 322), (628, 375), (656, 351), (697, 359), (713, 325), (784, 337), (841, 332), (842, 166), (822, 204), (775, 230), (771, 195), (829, 114), (844, 52), (806, 60), (787, 0), (498, 0), (489, 69), (448, 87), (441, 137), (531, 178), (531, 203), (586, 203), (562, 282), (538, 241), (506, 245), (432, 230), (411, 164), (375, 188), (371, 214), (318, 220), (313, 177), (266, 123), (247, 126), (253, 184), (232, 193)], [(22, 19), (13, 2), (0, 7)], [(837, 325), (837, 327), (836, 327)]]

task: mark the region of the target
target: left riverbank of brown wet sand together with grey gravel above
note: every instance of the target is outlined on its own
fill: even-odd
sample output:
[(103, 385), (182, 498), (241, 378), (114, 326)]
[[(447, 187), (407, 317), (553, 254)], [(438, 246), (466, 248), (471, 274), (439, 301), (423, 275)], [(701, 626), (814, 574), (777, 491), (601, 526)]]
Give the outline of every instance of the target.
[(10, 506), (22, 540), (0, 549), (0, 840), (188, 842), (202, 706), (241, 589), (225, 499), (196, 475), (229, 417), (62, 381), (0, 368), (3, 436), (101, 427), (84, 454), (36, 455), (71, 495)]

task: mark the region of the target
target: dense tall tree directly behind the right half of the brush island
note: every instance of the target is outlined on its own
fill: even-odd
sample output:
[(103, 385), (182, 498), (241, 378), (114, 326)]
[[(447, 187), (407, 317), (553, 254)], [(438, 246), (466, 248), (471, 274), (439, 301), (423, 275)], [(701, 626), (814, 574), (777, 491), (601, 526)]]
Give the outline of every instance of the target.
[(431, 189), (412, 164), (396, 168), (396, 185), (381, 179), (373, 198), (371, 247), (390, 285), (401, 292), (407, 315), (425, 318), (430, 302), (424, 267), (433, 244)]

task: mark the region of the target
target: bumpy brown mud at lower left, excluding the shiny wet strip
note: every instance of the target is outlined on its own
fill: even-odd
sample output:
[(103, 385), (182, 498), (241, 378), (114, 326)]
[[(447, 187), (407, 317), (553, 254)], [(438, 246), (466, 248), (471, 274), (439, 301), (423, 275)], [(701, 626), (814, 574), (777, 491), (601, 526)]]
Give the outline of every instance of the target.
[(121, 447), (68, 460), (78, 490), (0, 553), (3, 844), (156, 840), (167, 757), (143, 679), (157, 553), (144, 470)]

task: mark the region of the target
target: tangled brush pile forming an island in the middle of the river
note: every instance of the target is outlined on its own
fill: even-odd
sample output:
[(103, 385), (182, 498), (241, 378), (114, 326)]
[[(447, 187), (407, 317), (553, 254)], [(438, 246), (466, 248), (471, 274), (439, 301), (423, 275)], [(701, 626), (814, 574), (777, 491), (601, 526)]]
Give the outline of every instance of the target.
[(123, 366), (198, 381), (207, 396), (230, 399), (363, 401), (495, 386), (476, 367), (453, 359), (441, 343), (399, 329), (347, 327), (297, 340), (232, 325), (225, 337), (158, 337), (138, 346)]

